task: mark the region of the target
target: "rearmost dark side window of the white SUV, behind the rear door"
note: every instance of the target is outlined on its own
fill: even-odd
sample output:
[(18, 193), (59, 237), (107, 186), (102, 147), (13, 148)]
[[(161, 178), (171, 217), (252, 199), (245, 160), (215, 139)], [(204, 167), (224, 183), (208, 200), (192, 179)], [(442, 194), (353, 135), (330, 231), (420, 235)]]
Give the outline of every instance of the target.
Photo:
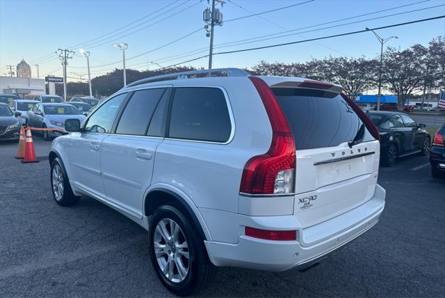
[(223, 91), (219, 88), (176, 88), (169, 136), (174, 139), (229, 140), (232, 125)]

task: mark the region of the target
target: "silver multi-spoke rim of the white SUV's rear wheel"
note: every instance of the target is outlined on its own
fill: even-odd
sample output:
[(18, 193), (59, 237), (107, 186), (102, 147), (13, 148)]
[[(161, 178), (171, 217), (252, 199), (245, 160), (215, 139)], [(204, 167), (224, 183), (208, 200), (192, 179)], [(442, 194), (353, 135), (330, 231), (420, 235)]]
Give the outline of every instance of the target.
[(186, 237), (174, 220), (159, 221), (154, 230), (153, 247), (164, 276), (173, 283), (184, 281), (190, 269), (190, 257)]

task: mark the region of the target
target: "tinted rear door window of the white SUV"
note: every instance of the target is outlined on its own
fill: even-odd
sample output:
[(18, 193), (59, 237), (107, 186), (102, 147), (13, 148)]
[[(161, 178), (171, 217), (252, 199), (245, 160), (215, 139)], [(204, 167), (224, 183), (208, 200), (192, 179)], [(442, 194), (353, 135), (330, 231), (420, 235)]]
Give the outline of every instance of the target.
[(120, 117), (116, 134), (145, 136), (150, 119), (165, 88), (136, 91)]

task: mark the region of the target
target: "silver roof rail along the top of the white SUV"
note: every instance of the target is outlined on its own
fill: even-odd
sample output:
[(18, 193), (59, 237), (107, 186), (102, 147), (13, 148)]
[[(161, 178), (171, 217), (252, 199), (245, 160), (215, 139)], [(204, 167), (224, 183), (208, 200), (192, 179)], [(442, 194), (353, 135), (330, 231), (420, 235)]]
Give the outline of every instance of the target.
[(223, 72), (227, 74), (227, 77), (247, 77), (249, 74), (245, 70), (239, 68), (214, 68), (211, 70), (191, 70), (188, 72), (175, 72), (168, 75), (158, 75), (155, 77), (147, 77), (145, 79), (140, 79), (138, 81), (133, 81), (133, 83), (128, 84), (125, 88), (137, 86), (140, 84), (145, 84), (153, 81), (165, 81), (167, 79), (188, 79), (191, 75), (207, 75), (211, 77), (212, 73)]

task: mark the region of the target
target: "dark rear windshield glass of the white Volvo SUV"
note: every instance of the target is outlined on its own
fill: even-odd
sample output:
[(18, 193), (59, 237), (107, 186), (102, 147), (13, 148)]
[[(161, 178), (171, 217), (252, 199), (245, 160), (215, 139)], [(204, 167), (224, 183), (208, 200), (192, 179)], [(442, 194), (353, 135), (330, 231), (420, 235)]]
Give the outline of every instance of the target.
[[(338, 93), (301, 88), (272, 88), (272, 91), (289, 122), (297, 150), (353, 141), (363, 125)], [(363, 141), (373, 140), (366, 127), (364, 130)]]

